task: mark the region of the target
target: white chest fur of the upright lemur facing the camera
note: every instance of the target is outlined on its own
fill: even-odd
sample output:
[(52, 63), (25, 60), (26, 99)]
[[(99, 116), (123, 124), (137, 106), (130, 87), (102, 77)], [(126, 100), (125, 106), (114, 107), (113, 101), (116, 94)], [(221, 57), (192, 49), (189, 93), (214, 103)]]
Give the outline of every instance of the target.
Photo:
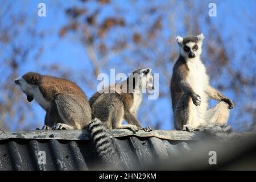
[(205, 90), (209, 85), (209, 77), (200, 58), (188, 60), (187, 65), (189, 69), (187, 81), (192, 86), (193, 91), (201, 97), (201, 105), (195, 108), (203, 114), (208, 107), (208, 96)]

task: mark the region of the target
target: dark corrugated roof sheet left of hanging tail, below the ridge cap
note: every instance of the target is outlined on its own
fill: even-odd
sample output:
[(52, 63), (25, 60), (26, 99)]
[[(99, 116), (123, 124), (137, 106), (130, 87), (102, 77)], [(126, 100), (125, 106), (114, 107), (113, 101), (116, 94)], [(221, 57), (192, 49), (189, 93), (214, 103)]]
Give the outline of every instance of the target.
[[(0, 142), (0, 170), (88, 170), (98, 163), (89, 140), (8, 139)], [(39, 151), (46, 154), (40, 164)]]

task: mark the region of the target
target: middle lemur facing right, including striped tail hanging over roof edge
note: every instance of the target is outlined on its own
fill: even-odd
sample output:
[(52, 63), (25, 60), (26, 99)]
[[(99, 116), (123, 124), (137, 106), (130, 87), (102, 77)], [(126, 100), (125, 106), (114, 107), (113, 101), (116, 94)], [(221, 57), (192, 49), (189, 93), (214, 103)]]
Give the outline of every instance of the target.
[[(151, 69), (137, 69), (127, 80), (110, 85), (107, 89), (109, 92), (113, 89), (114, 93), (97, 92), (89, 100), (93, 122), (88, 131), (105, 164), (122, 169), (122, 162), (106, 129), (130, 129), (134, 132), (142, 129), (137, 110), (142, 101), (142, 90), (154, 90)], [(128, 125), (122, 125), (123, 118)], [(150, 126), (143, 130), (152, 131)]]

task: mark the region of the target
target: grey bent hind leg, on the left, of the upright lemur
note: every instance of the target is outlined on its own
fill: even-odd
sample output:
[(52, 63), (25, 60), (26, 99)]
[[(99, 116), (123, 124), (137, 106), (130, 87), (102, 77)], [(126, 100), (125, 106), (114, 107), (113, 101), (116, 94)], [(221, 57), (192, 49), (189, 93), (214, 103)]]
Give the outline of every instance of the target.
[(188, 94), (183, 94), (174, 110), (174, 120), (176, 130), (192, 132), (192, 100)]

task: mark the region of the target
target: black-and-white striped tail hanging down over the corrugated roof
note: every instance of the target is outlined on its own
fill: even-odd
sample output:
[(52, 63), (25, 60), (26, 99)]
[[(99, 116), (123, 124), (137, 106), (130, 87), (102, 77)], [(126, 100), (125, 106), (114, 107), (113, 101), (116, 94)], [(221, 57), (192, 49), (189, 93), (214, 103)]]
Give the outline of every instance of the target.
[(88, 126), (88, 131), (104, 164), (109, 168), (122, 169), (114, 144), (100, 119), (94, 118)]

